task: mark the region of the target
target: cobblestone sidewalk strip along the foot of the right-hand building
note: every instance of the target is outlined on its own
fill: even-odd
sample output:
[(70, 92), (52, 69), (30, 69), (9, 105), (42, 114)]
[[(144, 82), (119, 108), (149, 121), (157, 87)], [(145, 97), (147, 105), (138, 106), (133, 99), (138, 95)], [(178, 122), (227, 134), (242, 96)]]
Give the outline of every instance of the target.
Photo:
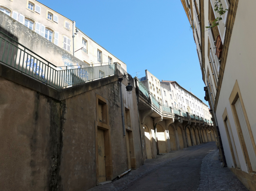
[(204, 157), (198, 191), (248, 191), (228, 167), (222, 167), (218, 151), (216, 149)]

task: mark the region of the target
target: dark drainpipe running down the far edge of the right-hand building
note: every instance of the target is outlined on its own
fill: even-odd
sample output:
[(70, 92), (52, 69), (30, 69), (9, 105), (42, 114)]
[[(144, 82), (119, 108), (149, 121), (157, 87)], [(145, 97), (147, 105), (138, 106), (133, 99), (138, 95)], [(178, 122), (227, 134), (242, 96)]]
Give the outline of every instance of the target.
[(225, 167), (225, 166), (227, 166), (227, 162), (226, 162), (226, 158), (225, 158), (225, 155), (224, 155), (224, 149), (223, 149), (223, 145), (222, 145), (221, 134), (220, 134), (217, 118), (216, 118), (215, 111), (214, 111), (214, 104), (213, 104), (213, 99), (211, 97), (211, 90), (210, 90), (208, 78), (207, 78), (207, 75), (206, 75), (206, 69), (203, 68), (203, 70), (204, 70), (204, 76), (206, 77), (207, 89), (208, 89), (208, 93), (209, 93), (209, 97), (210, 97), (211, 106), (213, 107), (213, 109), (212, 109), (213, 117), (214, 117), (216, 129), (217, 129), (218, 138), (219, 138), (219, 141), (220, 141), (220, 149), (221, 149), (221, 153), (222, 153), (222, 157), (223, 157), (222, 162), (223, 162), (223, 166)]

